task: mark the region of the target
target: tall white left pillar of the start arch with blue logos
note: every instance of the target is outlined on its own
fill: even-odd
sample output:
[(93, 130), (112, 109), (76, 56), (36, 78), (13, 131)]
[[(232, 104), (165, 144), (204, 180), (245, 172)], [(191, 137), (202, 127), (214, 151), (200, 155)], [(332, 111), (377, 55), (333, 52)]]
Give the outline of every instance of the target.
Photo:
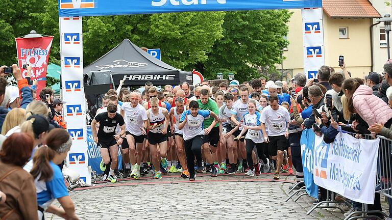
[(86, 102), (83, 89), (83, 38), (81, 17), (60, 17), (61, 91), (64, 119), (74, 140), (67, 155), (67, 167), (91, 184), (88, 171)]

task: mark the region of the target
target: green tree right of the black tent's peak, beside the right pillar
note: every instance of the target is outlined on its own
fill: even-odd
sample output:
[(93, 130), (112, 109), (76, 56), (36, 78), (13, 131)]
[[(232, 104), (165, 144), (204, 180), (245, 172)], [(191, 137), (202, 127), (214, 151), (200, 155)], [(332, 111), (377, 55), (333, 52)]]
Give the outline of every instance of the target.
[(234, 11), (225, 16), (224, 38), (215, 41), (206, 62), (197, 70), (207, 78), (217, 72), (231, 71), (235, 79), (247, 81), (259, 77), (259, 67), (274, 69), (281, 62), (282, 48), (288, 45), (287, 10)]

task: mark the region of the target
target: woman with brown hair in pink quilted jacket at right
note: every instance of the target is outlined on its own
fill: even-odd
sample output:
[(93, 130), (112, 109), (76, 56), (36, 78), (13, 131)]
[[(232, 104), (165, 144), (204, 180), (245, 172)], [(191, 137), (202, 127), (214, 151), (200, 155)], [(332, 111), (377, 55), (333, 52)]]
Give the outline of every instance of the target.
[(358, 113), (369, 126), (379, 123), (386, 128), (390, 128), (392, 108), (373, 95), (372, 88), (363, 85), (362, 79), (350, 78), (345, 80), (342, 90), (349, 99), (348, 105), (351, 113)]

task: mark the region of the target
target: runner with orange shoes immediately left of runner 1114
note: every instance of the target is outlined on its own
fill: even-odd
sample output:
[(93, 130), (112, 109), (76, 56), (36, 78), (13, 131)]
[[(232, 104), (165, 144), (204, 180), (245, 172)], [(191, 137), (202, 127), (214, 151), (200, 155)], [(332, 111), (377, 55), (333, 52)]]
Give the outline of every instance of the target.
[(183, 168), (183, 172), (181, 173), (182, 178), (189, 178), (189, 171), (186, 168), (186, 158), (184, 152), (184, 130), (180, 130), (178, 128), (180, 124), (181, 114), (187, 111), (188, 106), (184, 105), (184, 98), (177, 97), (175, 99), (176, 106), (170, 109), (170, 128), (171, 133), (174, 133), (176, 148), (177, 148), (177, 157), (180, 161), (180, 164)]

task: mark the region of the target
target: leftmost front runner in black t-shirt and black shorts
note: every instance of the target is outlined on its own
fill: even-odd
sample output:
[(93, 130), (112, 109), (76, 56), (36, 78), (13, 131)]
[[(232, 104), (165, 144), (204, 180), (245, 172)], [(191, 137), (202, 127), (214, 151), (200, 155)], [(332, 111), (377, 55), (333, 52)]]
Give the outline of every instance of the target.
[[(91, 130), (94, 142), (99, 144), (101, 147), (102, 161), (100, 168), (102, 171), (105, 171), (106, 164), (110, 161), (108, 152), (108, 150), (110, 150), (110, 157), (112, 161), (110, 163), (110, 171), (107, 180), (110, 182), (117, 182), (117, 179), (113, 177), (113, 172), (117, 166), (117, 145), (122, 143), (123, 139), (120, 138), (120, 136), (125, 133), (125, 122), (121, 115), (117, 113), (117, 105), (110, 103), (107, 108), (107, 113), (105, 112), (95, 116), (91, 122), (92, 128), (95, 127), (96, 123), (100, 123), (98, 134), (96, 134), (95, 129)], [(119, 134), (116, 134), (117, 125), (121, 128), (121, 132)]]

